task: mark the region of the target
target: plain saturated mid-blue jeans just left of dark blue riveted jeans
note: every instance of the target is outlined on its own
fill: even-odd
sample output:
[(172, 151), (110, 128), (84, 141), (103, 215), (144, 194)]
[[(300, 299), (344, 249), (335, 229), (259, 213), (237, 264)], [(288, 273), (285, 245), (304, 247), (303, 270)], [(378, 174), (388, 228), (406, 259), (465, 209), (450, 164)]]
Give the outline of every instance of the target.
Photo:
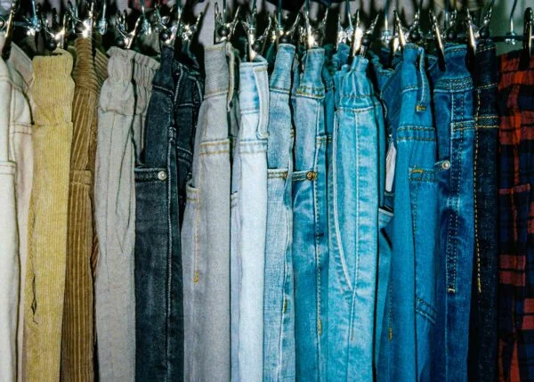
[[(417, 62), (418, 61), (418, 62)], [(431, 380), (437, 230), (436, 134), (424, 51), (406, 45), (382, 99), (396, 149), (394, 216), (378, 380)], [(382, 253), (381, 253), (382, 254)]]

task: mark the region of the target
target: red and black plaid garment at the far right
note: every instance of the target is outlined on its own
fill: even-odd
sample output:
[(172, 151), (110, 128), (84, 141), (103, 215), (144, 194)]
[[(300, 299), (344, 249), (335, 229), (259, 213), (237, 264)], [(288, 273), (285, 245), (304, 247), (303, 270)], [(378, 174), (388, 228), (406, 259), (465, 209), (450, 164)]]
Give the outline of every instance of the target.
[(534, 381), (534, 59), (501, 57), (499, 350), (501, 381)]

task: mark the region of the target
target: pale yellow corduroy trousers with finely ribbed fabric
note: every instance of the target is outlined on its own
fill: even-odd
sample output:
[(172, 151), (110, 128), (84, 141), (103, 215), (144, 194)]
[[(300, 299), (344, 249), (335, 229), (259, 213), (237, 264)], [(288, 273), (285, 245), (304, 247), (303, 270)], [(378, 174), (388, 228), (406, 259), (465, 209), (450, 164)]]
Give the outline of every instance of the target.
[(72, 100), (72, 57), (57, 50), (33, 60), (34, 188), (28, 217), (25, 286), (27, 381), (57, 382), (65, 296)]

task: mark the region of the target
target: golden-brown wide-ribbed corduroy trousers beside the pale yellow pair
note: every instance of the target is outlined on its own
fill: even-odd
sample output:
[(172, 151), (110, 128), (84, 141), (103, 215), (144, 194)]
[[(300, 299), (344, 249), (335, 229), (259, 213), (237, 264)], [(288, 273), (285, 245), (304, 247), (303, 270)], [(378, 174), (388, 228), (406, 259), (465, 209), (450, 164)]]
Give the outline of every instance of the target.
[(72, 105), (69, 227), (65, 307), (61, 344), (61, 380), (94, 380), (93, 329), (93, 171), (100, 81), (91, 39), (75, 41)]

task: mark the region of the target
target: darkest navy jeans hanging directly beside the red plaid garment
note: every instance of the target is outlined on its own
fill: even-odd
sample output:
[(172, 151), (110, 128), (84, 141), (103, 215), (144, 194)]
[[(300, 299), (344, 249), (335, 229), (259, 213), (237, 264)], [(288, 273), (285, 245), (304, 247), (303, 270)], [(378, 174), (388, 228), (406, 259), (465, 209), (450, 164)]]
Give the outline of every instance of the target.
[(491, 41), (477, 46), (474, 97), (474, 269), (469, 380), (497, 379), (498, 358), (498, 61)]

